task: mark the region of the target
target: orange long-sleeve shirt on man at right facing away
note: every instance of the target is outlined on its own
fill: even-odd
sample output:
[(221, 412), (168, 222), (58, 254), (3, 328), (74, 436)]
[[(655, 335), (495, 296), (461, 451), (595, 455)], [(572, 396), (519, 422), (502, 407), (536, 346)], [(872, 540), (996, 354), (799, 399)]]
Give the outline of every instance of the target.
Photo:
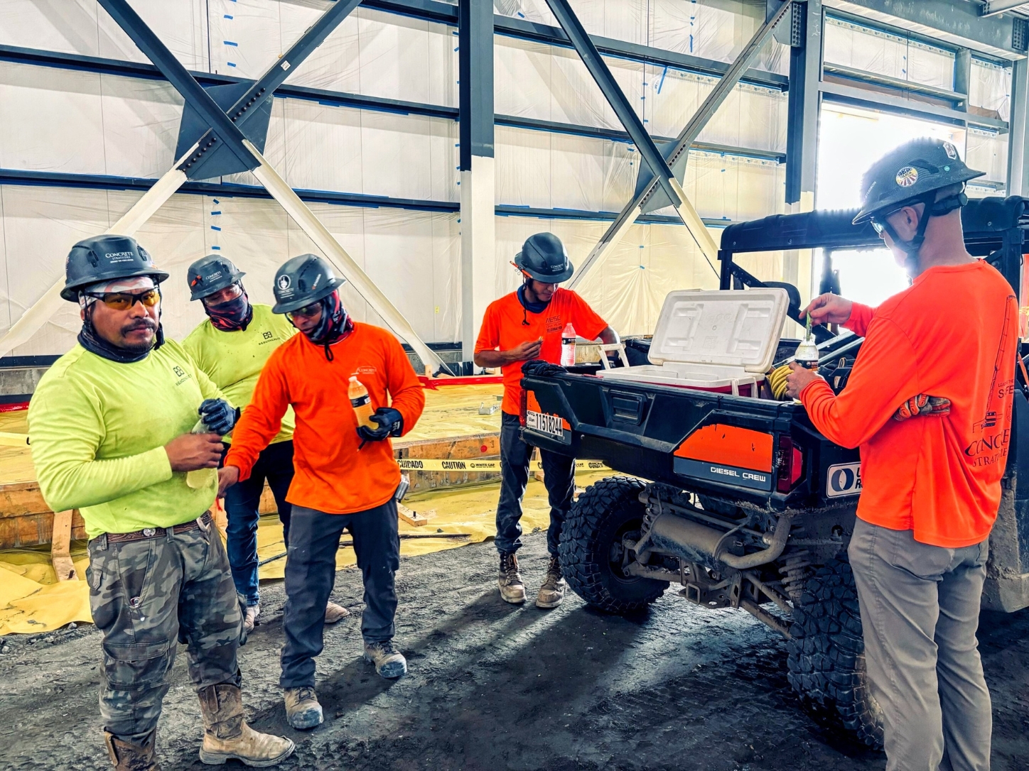
[[(860, 447), (857, 516), (916, 541), (960, 548), (990, 534), (1010, 439), (1018, 351), (1015, 292), (989, 264), (931, 267), (846, 326), (864, 335), (847, 388), (801, 392), (828, 439)], [(917, 394), (951, 400), (944, 416), (892, 419)]]

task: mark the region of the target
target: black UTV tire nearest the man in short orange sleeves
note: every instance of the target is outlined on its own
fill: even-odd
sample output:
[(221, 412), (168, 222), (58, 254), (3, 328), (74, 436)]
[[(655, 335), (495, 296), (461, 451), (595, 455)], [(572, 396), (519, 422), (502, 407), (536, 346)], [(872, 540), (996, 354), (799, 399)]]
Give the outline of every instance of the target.
[(668, 588), (667, 581), (622, 573), (622, 537), (639, 538), (644, 508), (638, 479), (608, 477), (587, 488), (561, 530), (561, 572), (572, 591), (608, 613), (646, 608)]

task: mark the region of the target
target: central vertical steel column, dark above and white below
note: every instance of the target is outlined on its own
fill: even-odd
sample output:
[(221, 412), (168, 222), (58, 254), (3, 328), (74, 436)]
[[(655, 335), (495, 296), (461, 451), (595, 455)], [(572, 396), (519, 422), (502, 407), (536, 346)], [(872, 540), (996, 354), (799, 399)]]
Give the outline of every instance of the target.
[(461, 358), (467, 363), (496, 293), (492, 0), (460, 0), (458, 20)]

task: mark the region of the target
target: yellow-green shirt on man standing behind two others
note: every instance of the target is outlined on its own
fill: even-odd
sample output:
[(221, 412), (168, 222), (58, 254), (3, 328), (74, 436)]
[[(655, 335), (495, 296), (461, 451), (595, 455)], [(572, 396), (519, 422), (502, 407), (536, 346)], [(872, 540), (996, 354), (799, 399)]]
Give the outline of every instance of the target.
[[(246, 329), (225, 332), (205, 319), (182, 341), (182, 347), (237, 407), (250, 404), (264, 362), (273, 351), (296, 334), (289, 320), (282, 314), (273, 314), (271, 305), (254, 303), (253, 309), (253, 319)], [(292, 439), (295, 425), (290, 407), (282, 416), (282, 429), (272, 444)], [(225, 439), (226, 443), (229, 441), (232, 437)]]

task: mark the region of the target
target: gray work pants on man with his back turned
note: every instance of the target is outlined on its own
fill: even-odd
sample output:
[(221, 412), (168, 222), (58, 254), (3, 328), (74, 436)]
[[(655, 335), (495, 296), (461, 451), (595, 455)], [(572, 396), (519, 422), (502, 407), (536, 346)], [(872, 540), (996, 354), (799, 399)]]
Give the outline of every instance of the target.
[(989, 540), (961, 549), (857, 520), (848, 553), (887, 771), (988, 771), (993, 722), (979, 657)]

